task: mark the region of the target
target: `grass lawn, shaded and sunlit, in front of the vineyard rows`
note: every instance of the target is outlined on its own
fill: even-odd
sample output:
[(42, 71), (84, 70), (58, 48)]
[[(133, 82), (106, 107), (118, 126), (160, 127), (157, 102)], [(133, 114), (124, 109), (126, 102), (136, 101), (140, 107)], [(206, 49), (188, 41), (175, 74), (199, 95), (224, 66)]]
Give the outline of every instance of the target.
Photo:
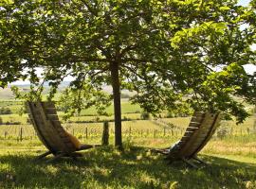
[[(256, 187), (256, 143), (212, 140), (199, 155), (209, 165), (199, 169), (178, 162), (169, 165), (163, 156), (147, 150), (148, 146), (169, 146), (170, 143), (166, 138), (125, 139), (124, 152), (107, 146), (84, 151), (83, 158), (75, 162), (63, 159), (56, 163), (35, 163), (34, 157), (46, 151), (38, 140), (19, 143), (2, 140), (0, 188)], [(235, 146), (241, 147), (240, 153), (236, 153)], [(225, 147), (229, 147), (229, 153), (222, 150)]]

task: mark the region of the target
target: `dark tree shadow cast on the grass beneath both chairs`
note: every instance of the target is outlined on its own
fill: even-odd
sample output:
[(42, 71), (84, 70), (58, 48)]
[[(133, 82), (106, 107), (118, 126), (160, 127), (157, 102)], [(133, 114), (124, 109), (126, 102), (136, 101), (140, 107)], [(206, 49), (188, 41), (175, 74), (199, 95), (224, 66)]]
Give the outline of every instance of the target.
[(200, 156), (199, 169), (184, 163), (168, 165), (162, 156), (142, 147), (120, 153), (112, 147), (84, 152), (77, 162), (33, 162), (32, 155), (0, 156), (0, 188), (244, 188), (256, 180), (256, 164)]

